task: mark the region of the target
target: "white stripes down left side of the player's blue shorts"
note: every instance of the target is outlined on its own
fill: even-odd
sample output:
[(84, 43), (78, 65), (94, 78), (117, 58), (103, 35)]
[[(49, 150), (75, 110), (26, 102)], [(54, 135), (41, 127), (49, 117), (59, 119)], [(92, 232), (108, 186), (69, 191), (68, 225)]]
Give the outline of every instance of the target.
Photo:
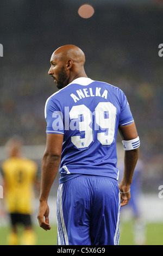
[(57, 194), (57, 237), (58, 245), (68, 245), (68, 236), (62, 211), (62, 185), (59, 185)]

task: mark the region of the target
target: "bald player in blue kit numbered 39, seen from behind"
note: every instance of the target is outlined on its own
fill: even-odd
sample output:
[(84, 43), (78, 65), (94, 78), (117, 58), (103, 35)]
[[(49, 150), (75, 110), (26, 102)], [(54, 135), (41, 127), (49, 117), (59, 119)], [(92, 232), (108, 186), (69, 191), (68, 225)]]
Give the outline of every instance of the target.
[[(122, 90), (88, 78), (84, 63), (85, 54), (74, 45), (61, 46), (51, 56), (48, 74), (60, 90), (45, 105), (37, 218), (40, 227), (51, 229), (47, 201), (60, 166), (58, 245), (118, 245), (120, 207), (130, 199), (140, 141)], [(119, 186), (117, 130), (126, 153)]]

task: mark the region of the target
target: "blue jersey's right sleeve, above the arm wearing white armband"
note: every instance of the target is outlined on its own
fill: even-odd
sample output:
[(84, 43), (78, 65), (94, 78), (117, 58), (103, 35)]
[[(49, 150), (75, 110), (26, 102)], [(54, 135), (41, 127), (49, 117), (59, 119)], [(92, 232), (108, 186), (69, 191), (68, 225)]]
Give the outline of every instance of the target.
[(119, 125), (128, 125), (134, 122), (133, 115), (130, 111), (130, 106), (127, 101), (126, 95), (120, 90), (121, 93), (121, 113)]

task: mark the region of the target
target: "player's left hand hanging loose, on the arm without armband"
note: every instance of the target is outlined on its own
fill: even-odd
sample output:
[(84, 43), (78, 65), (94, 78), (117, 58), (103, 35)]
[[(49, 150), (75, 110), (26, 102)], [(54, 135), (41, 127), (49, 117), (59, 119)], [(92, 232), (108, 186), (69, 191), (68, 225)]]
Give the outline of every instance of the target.
[(49, 206), (47, 202), (40, 202), (37, 219), (39, 220), (39, 225), (41, 228), (45, 229), (46, 231), (51, 229), (51, 226), (49, 225)]

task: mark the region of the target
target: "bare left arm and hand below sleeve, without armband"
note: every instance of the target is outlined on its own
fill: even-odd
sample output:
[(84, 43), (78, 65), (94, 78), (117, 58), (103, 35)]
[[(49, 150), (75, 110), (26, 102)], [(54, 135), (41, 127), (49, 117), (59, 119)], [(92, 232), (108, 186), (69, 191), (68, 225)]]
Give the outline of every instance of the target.
[(42, 157), (40, 206), (37, 219), (39, 220), (40, 227), (45, 230), (51, 229), (47, 200), (60, 166), (63, 138), (63, 135), (48, 133), (46, 149)]

